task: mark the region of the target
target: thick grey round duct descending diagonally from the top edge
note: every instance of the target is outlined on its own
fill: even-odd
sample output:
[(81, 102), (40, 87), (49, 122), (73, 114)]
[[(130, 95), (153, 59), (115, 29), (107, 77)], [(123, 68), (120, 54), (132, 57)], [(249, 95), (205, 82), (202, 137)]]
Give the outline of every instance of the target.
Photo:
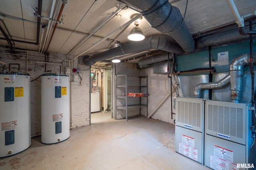
[(149, 25), (162, 33), (168, 33), (186, 52), (193, 52), (195, 43), (180, 10), (168, 0), (120, 0), (136, 8)]

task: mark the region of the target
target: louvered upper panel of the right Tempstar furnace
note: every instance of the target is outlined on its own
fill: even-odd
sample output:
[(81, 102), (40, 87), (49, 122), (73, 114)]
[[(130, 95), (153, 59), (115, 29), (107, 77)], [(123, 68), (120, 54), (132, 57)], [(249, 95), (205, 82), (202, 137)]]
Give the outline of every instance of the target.
[(206, 101), (206, 133), (245, 144), (246, 104)]

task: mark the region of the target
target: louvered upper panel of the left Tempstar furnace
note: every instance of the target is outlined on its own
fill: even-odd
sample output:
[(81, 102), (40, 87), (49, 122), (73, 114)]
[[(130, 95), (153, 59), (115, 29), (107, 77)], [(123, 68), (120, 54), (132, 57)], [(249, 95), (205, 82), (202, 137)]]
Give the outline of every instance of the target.
[(204, 101), (195, 98), (176, 98), (176, 125), (202, 132)]

